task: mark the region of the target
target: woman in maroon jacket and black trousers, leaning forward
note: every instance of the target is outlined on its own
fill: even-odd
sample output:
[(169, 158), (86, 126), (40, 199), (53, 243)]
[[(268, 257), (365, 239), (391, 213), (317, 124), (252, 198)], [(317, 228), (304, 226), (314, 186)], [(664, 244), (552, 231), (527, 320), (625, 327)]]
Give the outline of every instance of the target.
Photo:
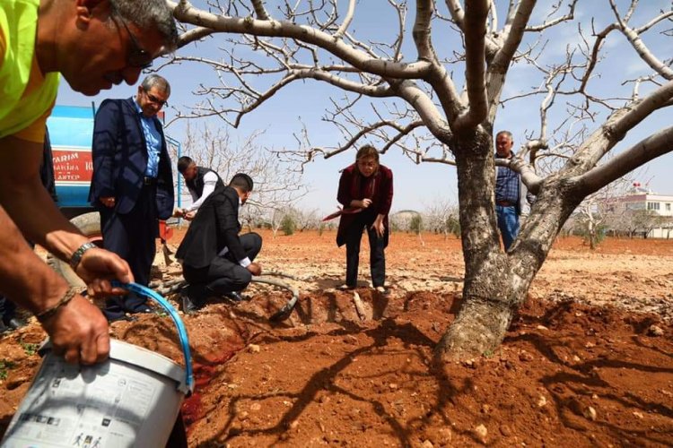
[(367, 229), (370, 245), (371, 284), (381, 293), (386, 280), (388, 213), (392, 203), (392, 171), (379, 164), (379, 152), (371, 145), (357, 151), (355, 163), (339, 179), (337, 201), (344, 205), (337, 231), (337, 246), (345, 244), (345, 288), (357, 285), (360, 240)]

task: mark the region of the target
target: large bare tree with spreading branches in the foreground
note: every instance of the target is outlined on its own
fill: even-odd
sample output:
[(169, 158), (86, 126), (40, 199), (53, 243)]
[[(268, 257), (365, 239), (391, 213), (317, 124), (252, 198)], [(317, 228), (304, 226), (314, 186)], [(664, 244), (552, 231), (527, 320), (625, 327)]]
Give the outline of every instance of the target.
[[(179, 63), (211, 65), (223, 82), (201, 90), (205, 100), (194, 115), (218, 115), (238, 125), (294, 82), (325, 82), (340, 93), (324, 119), (337, 125), (343, 142), (331, 148), (312, 145), (305, 131), (299, 135), (302, 146), (286, 156), (305, 163), (378, 142), (381, 152), (394, 149), (417, 163), (456, 167), (466, 275), (462, 306), (437, 350), (440, 359), (496, 349), (577, 205), (673, 149), (673, 127), (631, 147), (617, 145), (646, 117), (673, 104), (669, 61), (659, 59), (642, 39), (655, 34), (669, 40), (669, 6), (657, 11), (646, 2), (639, 9), (636, 0), (539, 5), (536, 0), (213, 0), (207, 10), (187, 1), (173, 5), (186, 26), (181, 46), (217, 33), (226, 37), (219, 58), (174, 56)], [(594, 18), (590, 10), (575, 15), (579, 7), (601, 15)], [(369, 20), (377, 26), (357, 22), (366, 8), (375, 11)], [(643, 14), (650, 17), (643, 20)], [(597, 28), (599, 23), (604, 25)], [(564, 41), (561, 56), (548, 60), (547, 47)], [(616, 79), (626, 70), (598, 76), (607, 47), (644, 62), (627, 86), (633, 89), (625, 92), (620, 82), (629, 79)], [(670, 56), (670, 47), (661, 46), (664, 56)], [(508, 77), (514, 68), (534, 73), (527, 84), (538, 87), (521, 91), (515, 83), (523, 72)], [(539, 99), (532, 108), (531, 99)], [(494, 122), (503, 106), (511, 106), (510, 116), (527, 116), (535, 129), (529, 129), (515, 159), (496, 162)], [(496, 163), (519, 171), (537, 194), (508, 253), (496, 227)], [(538, 170), (542, 165), (549, 169)]]

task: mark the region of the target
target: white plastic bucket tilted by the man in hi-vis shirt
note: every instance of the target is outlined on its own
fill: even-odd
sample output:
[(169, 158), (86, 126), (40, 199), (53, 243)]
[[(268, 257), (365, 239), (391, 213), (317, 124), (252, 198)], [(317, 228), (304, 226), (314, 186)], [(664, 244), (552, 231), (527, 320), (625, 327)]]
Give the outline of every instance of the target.
[(73, 366), (51, 351), (2, 447), (164, 447), (187, 392), (181, 366), (110, 340), (109, 359)]

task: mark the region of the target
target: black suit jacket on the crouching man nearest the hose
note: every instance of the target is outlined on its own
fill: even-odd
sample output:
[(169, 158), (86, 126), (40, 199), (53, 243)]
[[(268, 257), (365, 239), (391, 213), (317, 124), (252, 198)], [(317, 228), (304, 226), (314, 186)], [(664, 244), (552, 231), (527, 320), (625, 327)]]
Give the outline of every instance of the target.
[(210, 265), (224, 247), (236, 261), (248, 256), (239, 239), (239, 194), (231, 186), (217, 186), (198, 209), (176, 257), (190, 268)]

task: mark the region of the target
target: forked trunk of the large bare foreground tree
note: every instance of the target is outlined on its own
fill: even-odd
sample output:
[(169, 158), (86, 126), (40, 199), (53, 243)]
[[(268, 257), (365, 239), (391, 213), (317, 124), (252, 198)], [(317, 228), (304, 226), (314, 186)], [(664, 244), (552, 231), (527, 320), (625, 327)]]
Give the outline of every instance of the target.
[[(476, 134), (454, 149), (465, 258), (462, 304), (437, 347), (441, 361), (493, 353), (565, 220), (581, 199), (550, 179), (540, 191), (519, 237), (505, 254), (494, 207), (494, 158), (490, 135)], [(481, 173), (481, 176), (479, 175)]]

